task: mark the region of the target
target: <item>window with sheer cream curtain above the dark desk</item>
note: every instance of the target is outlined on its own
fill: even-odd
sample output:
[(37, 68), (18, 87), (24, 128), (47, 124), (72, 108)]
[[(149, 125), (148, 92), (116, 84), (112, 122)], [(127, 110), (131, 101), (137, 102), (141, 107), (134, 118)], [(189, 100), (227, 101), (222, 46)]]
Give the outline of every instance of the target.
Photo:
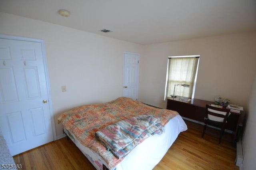
[[(179, 86), (175, 87), (175, 95), (194, 98), (199, 57), (199, 55), (168, 57), (165, 100), (166, 97), (173, 95), (174, 85), (177, 84)], [(183, 87), (181, 84), (190, 87)]]

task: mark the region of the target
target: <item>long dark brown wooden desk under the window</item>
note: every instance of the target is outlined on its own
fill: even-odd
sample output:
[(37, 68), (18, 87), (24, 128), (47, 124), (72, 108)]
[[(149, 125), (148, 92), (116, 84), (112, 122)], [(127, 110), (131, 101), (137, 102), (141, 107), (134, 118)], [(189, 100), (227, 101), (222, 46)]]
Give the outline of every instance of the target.
[[(205, 101), (200, 99), (192, 99), (191, 101), (180, 101), (180, 97), (167, 98), (166, 109), (177, 111), (182, 117), (193, 119), (204, 123), (204, 117), (207, 104), (214, 104), (212, 101)], [(238, 125), (242, 122), (241, 113), (230, 112), (228, 122), (226, 123), (226, 129), (232, 130), (234, 133), (233, 142), (236, 141), (236, 134), (238, 132)]]

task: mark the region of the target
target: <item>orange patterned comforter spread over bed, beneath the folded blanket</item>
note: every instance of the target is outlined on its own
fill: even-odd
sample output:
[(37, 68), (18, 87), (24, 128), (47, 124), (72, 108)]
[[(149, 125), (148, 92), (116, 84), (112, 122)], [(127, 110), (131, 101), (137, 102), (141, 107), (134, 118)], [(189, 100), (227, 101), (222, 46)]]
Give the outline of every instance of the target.
[(108, 125), (138, 115), (159, 117), (160, 124), (164, 126), (178, 113), (172, 110), (157, 109), (130, 98), (120, 97), (108, 103), (84, 105), (71, 109), (62, 113), (58, 122), (62, 122), (63, 127), (72, 132), (80, 143), (98, 153), (112, 169), (124, 157), (116, 158), (95, 138), (95, 133)]

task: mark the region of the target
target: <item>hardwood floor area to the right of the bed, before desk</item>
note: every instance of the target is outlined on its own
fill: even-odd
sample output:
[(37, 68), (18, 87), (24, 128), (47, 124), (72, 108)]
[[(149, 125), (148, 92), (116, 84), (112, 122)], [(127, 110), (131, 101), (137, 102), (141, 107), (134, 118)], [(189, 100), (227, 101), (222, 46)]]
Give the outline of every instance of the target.
[(224, 134), (221, 144), (218, 136), (206, 132), (203, 125), (186, 121), (188, 130), (181, 132), (174, 144), (154, 170), (238, 170), (235, 165), (236, 148), (232, 135)]

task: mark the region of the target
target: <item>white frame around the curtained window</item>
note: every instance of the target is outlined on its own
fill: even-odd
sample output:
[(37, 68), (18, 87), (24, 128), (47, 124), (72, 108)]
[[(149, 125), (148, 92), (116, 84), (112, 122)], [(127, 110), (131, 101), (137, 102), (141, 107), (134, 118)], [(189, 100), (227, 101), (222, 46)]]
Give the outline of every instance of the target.
[(188, 58), (188, 57), (198, 57), (198, 62), (196, 66), (196, 73), (193, 83), (193, 90), (192, 90), (192, 99), (194, 99), (195, 90), (196, 90), (196, 80), (198, 75), (198, 67), (200, 61), (200, 55), (179, 55), (179, 56), (168, 56), (167, 58), (167, 69), (166, 69), (166, 82), (165, 82), (165, 89), (164, 89), (164, 101), (167, 101), (167, 90), (168, 90), (168, 77), (169, 77), (169, 67), (170, 67), (170, 59), (171, 58)]

